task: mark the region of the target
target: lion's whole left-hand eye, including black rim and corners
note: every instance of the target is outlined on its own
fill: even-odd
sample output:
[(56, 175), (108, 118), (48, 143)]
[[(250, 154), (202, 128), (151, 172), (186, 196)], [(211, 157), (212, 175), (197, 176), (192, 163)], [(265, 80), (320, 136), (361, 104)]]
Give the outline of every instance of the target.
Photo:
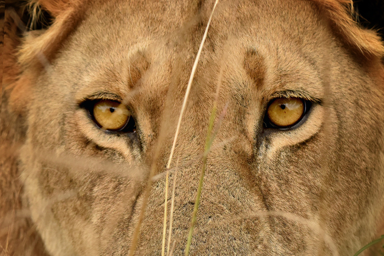
[(112, 133), (136, 131), (136, 123), (129, 109), (117, 100), (85, 100), (80, 107), (88, 110), (92, 121), (101, 129)]

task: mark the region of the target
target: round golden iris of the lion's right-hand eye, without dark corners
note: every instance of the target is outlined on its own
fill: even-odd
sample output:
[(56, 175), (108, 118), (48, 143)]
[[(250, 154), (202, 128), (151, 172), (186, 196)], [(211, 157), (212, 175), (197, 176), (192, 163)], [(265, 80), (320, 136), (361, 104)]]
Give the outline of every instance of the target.
[(305, 101), (301, 98), (276, 98), (266, 112), (272, 126), (286, 128), (301, 120), (305, 112)]

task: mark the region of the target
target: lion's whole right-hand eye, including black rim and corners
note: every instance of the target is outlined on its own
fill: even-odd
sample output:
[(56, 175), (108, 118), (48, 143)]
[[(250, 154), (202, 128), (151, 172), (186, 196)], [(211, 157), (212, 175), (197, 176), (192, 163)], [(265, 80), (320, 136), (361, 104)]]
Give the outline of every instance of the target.
[(264, 126), (289, 129), (298, 124), (308, 112), (311, 101), (298, 97), (278, 97), (267, 104)]

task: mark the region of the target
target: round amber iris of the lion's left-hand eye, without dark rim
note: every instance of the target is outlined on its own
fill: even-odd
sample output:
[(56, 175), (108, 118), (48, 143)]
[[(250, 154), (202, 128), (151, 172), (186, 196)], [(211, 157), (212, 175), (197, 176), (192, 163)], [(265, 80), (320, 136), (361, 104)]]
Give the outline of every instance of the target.
[(129, 120), (129, 110), (120, 102), (101, 99), (93, 105), (93, 117), (106, 130), (120, 130)]

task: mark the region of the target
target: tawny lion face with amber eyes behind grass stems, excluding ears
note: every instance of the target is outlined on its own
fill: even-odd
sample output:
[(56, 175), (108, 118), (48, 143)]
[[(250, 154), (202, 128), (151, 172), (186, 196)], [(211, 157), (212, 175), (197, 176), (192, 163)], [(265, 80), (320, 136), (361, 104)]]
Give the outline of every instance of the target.
[(174, 179), (168, 250), (184, 254), (202, 166), (193, 255), (351, 255), (375, 237), (384, 69), (312, 1), (217, 4), (167, 180), (212, 7), (94, 1), (41, 54), (20, 168), (51, 255), (160, 255)]

